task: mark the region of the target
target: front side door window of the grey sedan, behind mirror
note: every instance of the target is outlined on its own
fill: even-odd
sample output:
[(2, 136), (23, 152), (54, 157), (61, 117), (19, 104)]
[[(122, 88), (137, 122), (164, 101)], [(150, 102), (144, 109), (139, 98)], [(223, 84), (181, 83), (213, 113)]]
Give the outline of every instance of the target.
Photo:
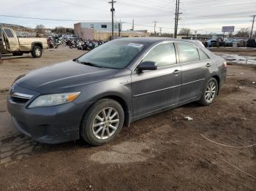
[(153, 61), (157, 66), (176, 64), (176, 51), (172, 42), (158, 44), (143, 58), (143, 62)]

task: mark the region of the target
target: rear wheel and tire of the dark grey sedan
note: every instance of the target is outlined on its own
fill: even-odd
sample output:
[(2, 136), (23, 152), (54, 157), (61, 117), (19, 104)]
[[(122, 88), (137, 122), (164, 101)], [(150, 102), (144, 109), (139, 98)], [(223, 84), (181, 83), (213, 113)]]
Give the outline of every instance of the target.
[(215, 79), (214, 77), (211, 77), (203, 89), (203, 94), (199, 103), (202, 104), (203, 106), (210, 105), (216, 98), (218, 90), (219, 90), (219, 85), (218, 85), (217, 79)]

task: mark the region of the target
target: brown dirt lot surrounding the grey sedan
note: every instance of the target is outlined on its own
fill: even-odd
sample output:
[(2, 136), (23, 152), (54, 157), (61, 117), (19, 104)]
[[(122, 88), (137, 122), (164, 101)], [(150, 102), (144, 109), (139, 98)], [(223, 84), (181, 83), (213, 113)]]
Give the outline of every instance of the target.
[(256, 147), (224, 147), (203, 138), (235, 147), (256, 143), (255, 66), (229, 65), (211, 106), (192, 103), (147, 117), (102, 147), (39, 144), (15, 130), (4, 90), (20, 74), (82, 53), (46, 50), (39, 59), (1, 63), (1, 190), (255, 190)]

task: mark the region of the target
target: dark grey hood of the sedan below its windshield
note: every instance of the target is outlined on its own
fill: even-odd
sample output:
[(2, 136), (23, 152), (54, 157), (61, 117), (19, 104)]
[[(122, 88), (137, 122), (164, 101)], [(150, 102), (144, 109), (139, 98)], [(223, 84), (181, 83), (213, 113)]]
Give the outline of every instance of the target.
[(66, 61), (37, 69), (20, 77), (16, 84), (39, 93), (59, 93), (64, 89), (110, 79), (115, 69), (86, 66)]

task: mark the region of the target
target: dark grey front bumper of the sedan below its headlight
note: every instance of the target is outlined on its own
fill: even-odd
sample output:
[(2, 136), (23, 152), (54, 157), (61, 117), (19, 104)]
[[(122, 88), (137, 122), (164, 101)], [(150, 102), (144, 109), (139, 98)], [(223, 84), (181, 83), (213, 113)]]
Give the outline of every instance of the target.
[[(19, 93), (28, 93), (23, 87), (15, 85)], [(33, 93), (37, 97), (37, 93)], [(58, 144), (79, 139), (80, 121), (83, 117), (83, 106), (68, 103), (59, 106), (37, 107), (28, 109), (33, 101), (18, 104), (7, 97), (7, 109), (18, 130), (31, 139), (47, 144)]]

